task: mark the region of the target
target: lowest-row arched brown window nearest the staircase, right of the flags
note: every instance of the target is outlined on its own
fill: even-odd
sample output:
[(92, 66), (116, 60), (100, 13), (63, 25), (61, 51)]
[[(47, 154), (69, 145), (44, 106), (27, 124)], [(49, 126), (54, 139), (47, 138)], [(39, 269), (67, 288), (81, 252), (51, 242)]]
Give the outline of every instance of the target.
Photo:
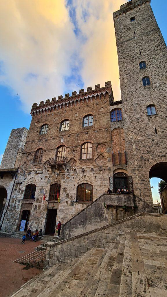
[(93, 200), (93, 187), (90, 184), (80, 184), (77, 187), (77, 201), (91, 202)]

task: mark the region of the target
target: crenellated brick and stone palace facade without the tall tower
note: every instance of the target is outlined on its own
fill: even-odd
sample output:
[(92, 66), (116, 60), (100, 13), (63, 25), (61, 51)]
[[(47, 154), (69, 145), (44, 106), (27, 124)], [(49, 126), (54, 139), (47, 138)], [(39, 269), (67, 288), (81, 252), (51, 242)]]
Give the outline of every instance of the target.
[[(89, 87), (86, 92), (82, 89), (79, 94), (33, 104), (15, 199), (4, 228), (20, 230), (24, 217), (31, 229), (53, 234), (56, 221), (65, 223), (106, 192), (113, 175), (110, 105), (117, 105), (110, 81), (102, 88), (96, 85), (94, 90)], [(66, 154), (59, 157), (64, 148)], [(34, 191), (30, 196), (28, 186)]]

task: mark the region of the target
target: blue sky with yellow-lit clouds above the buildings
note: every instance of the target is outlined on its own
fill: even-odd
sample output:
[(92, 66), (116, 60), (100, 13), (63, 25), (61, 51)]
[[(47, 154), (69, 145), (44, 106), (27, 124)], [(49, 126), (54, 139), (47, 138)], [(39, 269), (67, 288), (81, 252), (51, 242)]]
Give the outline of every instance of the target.
[[(0, 161), (11, 129), (29, 128), (34, 102), (108, 80), (121, 98), (112, 12), (124, 3), (0, 0)], [(167, 43), (167, 1), (152, 0), (151, 7)], [(157, 184), (152, 178), (153, 200)]]

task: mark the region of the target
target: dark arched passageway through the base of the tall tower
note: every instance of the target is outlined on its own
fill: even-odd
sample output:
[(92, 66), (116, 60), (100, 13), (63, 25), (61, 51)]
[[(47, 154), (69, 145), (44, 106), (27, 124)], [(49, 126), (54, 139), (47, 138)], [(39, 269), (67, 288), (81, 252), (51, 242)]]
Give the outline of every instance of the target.
[[(149, 178), (150, 179), (153, 178), (153, 180), (157, 178), (157, 185), (156, 185), (157, 197), (156, 198), (159, 199), (160, 197), (163, 214), (167, 214), (167, 187), (164, 187), (163, 189), (160, 190), (160, 192), (158, 192), (158, 182), (160, 180), (163, 180), (167, 183), (167, 162), (159, 162), (153, 165), (152, 168), (149, 170)], [(158, 178), (160, 178), (160, 180)], [(155, 191), (155, 187), (154, 187), (154, 191)], [(153, 190), (152, 190), (152, 196), (154, 200), (155, 197), (153, 195)]]

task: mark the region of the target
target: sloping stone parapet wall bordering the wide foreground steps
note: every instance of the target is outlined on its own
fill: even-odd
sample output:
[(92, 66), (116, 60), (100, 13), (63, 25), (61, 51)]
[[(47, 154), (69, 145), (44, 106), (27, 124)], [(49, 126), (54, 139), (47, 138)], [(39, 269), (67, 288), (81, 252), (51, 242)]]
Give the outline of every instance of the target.
[(132, 232), (167, 234), (167, 216), (136, 214), (58, 243), (48, 242), (44, 268), (52, 267), (58, 261), (68, 263), (93, 247), (105, 248), (122, 235)]

